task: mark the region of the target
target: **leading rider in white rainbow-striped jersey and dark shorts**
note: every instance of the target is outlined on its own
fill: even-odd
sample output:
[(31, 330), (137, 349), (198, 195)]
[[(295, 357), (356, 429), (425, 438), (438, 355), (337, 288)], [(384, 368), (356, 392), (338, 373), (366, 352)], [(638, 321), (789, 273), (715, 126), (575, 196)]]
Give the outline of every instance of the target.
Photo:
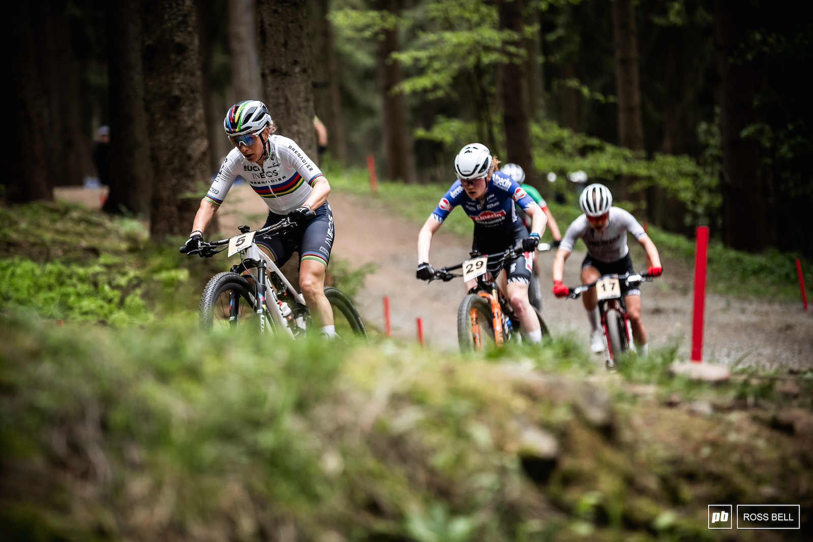
[[(259, 100), (246, 100), (229, 108), (223, 128), (234, 149), (226, 156), (209, 192), (201, 200), (185, 243), (187, 254), (203, 256), (203, 232), (234, 180), (241, 176), (268, 206), (263, 228), (286, 217), (297, 224), (289, 232), (254, 237), (254, 242), (278, 267), (282, 267), (293, 252), (299, 253), (302, 297), (311, 317), (320, 325), (320, 333), (328, 338), (336, 336), (333, 310), (324, 296), (324, 276), (334, 235), (328, 180), (292, 139), (273, 135), (276, 125)], [(306, 219), (305, 215), (311, 210), (316, 216)]]

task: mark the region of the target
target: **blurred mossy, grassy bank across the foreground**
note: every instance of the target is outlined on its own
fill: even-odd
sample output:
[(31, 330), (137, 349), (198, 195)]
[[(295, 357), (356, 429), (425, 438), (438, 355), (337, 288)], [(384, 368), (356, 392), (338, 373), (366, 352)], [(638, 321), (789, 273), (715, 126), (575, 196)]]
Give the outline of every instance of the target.
[(766, 501), (810, 534), (811, 373), (0, 319), (2, 540), (745, 540), (706, 505)]

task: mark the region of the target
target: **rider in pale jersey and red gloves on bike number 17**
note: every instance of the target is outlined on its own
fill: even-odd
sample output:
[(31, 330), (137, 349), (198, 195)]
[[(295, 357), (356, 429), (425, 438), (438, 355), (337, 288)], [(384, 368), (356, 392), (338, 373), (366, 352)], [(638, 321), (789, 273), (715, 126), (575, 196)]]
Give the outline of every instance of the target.
[[(661, 275), (663, 268), (658, 249), (633, 215), (612, 206), (612, 195), (606, 186), (590, 184), (581, 193), (579, 202), (585, 214), (580, 215), (567, 228), (554, 258), (553, 291), (556, 297), (566, 297), (569, 293), (567, 286), (562, 284), (564, 262), (579, 239), (585, 241), (587, 245), (587, 256), (581, 262), (581, 284), (589, 284), (602, 275), (611, 273), (624, 275), (633, 272), (633, 260), (629, 257), (627, 247), (627, 232), (631, 233), (646, 250), (646, 258), (650, 262), (647, 272), (653, 276)], [(646, 356), (646, 329), (641, 320), (641, 290), (628, 288), (622, 283), (621, 293), (624, 294), (624, 304), (627, 306), (627, 315), (633, 327), (637, 352), (641, 356)], [(590, 348), (593, 352), (602, 352), (604, 343), (602, 334), (598, 331), (598, 301), (595, 288), (583, 293), (581, 299), (584, 301), (587, 319), (590, 322)]]

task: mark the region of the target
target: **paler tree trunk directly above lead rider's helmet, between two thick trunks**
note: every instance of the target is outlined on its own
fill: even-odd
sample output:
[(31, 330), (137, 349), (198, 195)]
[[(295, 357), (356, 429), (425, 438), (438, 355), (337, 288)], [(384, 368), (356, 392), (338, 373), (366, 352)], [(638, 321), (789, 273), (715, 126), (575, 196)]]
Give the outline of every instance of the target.
[(236, 102), (262, 97), (254, 12), (254, 0), (228, 0), (228, 47), (232, 52), (232, 88)]

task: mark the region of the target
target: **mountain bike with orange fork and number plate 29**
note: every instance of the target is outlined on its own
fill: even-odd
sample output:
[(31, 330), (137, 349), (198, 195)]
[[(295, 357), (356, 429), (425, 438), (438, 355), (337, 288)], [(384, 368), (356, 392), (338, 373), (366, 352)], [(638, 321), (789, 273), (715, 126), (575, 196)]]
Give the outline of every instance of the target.
[[(550, 245), (540, 243), (537, 250), (550, 250)], [(429, 279), (449, 282), (457, 277), (463, 277), (463, 282), (477, 280), (474, 288), (469, 290), (458, 309), (458, 343), (462, 352), (480, 350), (486, 344), (502, 346), (506, 340), (522, 342), (520, 334), (520, 321), (516, 319), (514, 311), (508, 304), (506, 297), (497, 287), (496, 276), (512, 260), (523, 253), (522, 242), (499, 254), (480, 254), (472, 252), (471, 259), (454, 266), (442, 267), (435, 270), (435, 276)], [(498, 262), (498, 271), (492, 275), (488, 271), (489, 260)], [(453, 273), (462, 269), (463, 273)], [(550, 335), (541, 312), (534, 307), (539, 319), (543, 335)]]

